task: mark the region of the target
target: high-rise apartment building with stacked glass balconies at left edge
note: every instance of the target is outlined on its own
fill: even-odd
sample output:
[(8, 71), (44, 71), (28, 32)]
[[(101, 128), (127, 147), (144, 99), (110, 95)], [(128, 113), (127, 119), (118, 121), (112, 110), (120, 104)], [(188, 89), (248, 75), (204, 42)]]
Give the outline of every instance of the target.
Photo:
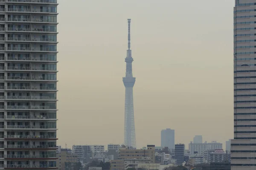
[(56, 168), (57, 0), (0, 0), (0, 168)]

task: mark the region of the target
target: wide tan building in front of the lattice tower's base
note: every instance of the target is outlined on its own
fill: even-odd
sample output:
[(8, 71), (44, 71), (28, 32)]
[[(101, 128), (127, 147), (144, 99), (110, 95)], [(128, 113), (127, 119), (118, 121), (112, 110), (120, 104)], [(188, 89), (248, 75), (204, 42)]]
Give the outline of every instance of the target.
[(150, 158), (150, 163), (155, 163), (154, 145), (148, 145), (147, 149), (128, 149), (128, 147), (120, 147), (119, 152), (119, 159)]

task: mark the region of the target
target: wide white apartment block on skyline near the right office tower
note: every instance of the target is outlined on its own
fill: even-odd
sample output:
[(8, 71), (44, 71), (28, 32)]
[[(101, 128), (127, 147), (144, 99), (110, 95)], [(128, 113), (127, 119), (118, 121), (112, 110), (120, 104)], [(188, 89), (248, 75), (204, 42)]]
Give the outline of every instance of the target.
[(216, 141), (212, 141), (211, 143), (204, 142), (202, 144), (189, 144), (189, 152), (190, 154), (198, 153), (203, 155), (205, 150), (211, 150), (211, 149), (222, 149), (222, 144), (217, 143)]

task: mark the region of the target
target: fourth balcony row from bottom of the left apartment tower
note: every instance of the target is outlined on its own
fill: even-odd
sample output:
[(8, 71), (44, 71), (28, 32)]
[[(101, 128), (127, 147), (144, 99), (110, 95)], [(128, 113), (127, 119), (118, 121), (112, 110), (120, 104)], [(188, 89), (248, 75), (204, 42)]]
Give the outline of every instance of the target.
[(4, 136), (5, 139), (54, 139), (57, 140), (57, 136), (49, 136), (49, 135), (38, 135), (38, 136), (34, 136), (34, 135), (5, 135)]

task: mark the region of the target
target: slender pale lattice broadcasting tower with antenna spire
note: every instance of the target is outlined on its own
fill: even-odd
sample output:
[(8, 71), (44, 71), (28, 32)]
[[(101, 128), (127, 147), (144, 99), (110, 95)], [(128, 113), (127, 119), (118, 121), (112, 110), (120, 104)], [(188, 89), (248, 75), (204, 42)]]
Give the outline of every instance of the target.
[(136, 135), (134, 125), (134, 106), (133, 106), (133, 86), (135, 77), (132, 76), (132, 62), (131, 57), (131, 34), (130, 34), (131, 19), (128, 19), (128, 50), (125, 58), (126, 75), (123, 77), (125, 85), (125, 141), (127, 147), (136, 148)]

